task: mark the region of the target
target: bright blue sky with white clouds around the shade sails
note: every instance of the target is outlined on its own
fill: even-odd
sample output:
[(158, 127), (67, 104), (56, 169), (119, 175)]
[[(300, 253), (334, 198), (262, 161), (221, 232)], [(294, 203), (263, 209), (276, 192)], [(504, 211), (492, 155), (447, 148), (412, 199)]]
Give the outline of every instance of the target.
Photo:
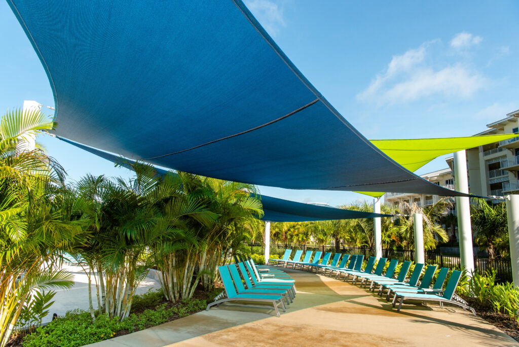
[[(245, 3), (309, 81), (369, 139), (470, 136), (519, 109), (519, 2)], [(52, 106), (44, 69), (5, 2), (0, 32), (0, 109), (21, 107), (23, 100)], [(72, 145), (50, 137), (39, 141), (72, 180), (87, 172), (129, 176)], [(439, 158), (418, 174), (445, 167)], [(267, 187), (261, 192), (333, 206), (364, 198)]]

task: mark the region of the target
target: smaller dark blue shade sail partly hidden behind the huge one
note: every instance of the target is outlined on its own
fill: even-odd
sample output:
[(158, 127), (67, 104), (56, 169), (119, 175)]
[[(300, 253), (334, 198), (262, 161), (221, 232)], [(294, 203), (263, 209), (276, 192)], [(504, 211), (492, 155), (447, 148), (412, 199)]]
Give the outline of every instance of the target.
[[(67, 139), (61, 138), (61, 140), (104, 159), (107, 159), (113, 163), (119, 163), (128, 169), (132, 168), (131, 165), (125, 165), (125, 162), (132, 162), (129, 159), (121, 158), (115, 154), (100, 151), (98, 149), (91, 148), (89, 146), (85, 146)], [(166, 175), (168, 173), (168, 170), (157, 167), (155, 169), (159, 175)], [(260, 195), (259, 197), (261, 199), (264, 212), (262, 219), (271, 222), (306, 222), (318, 220), (391, 217), (391, 215), (384, 215), (379, 213), (296, 203), (293, 201), (278, 199), (276, 197), (266, 195)]]

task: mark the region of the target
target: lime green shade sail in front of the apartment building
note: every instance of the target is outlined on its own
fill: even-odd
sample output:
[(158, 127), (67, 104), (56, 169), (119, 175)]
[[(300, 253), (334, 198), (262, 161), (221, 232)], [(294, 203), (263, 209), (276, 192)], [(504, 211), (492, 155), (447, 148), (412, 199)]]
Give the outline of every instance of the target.
[[(517, 137), (517, 134), (447, 137), (434, 139), (370, 140), (387, 156), (409, 171), (416, 171), (440, 155), (467, 150)], [(357, 192), (380, 197), (385, 192)]]

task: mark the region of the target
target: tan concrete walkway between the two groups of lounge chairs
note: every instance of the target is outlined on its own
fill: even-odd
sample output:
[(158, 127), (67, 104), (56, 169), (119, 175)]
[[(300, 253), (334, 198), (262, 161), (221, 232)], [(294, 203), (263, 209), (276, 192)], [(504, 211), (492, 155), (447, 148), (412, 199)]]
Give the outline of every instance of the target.
[(397, 312), (368, 290), (308, 272), (287, 272), (296, 279), (298, 291), (280, 318), (268, 308), (228, 303), (94, 345), (519, 346), (462, 309), (404, 304)]

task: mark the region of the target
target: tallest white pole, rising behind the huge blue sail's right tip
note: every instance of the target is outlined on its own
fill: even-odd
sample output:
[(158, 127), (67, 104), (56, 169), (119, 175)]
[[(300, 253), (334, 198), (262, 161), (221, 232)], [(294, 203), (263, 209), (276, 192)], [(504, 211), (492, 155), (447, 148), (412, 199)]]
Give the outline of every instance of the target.
[[(467, 174), (467, 154), (465, 150), (454, 153), (454, 183), (458, 192), (469, 193)], [(465, 196), (456, 196), (458, 214), (458, 238), (461, 268), (471, 276), (474, 271), (474, 248), (472, 246), (472, 225), (470, 222), (470, 200)]]

